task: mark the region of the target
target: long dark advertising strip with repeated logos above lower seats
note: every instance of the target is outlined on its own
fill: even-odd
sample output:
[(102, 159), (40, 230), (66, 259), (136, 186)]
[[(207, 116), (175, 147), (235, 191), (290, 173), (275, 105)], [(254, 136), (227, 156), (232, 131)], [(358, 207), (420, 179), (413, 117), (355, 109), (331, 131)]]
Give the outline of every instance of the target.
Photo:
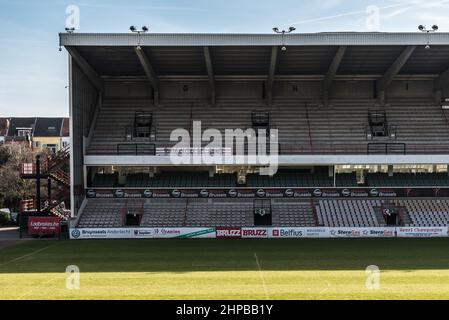
[(449, 197), (449, 188), (87, 189), (88, 198), (413, 198)]

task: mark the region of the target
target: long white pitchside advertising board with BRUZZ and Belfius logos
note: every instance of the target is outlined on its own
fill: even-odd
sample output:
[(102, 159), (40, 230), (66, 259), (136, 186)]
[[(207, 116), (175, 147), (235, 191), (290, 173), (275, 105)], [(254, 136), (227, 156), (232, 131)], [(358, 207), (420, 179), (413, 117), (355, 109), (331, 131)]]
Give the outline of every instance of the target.
[(448, 227), (384, 228), (97, 228), (71, 229), (78, 239), (311, 239), (311, 238), (432, 238), (448, 237)]

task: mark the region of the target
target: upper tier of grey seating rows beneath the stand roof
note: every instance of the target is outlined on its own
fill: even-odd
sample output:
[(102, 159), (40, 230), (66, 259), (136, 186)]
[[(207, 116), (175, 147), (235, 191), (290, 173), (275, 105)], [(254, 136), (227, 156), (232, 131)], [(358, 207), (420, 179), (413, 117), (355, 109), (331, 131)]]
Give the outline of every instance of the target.
[[(388, 134), (383, 136), (373, 134), (370, 127), (372, 108), (373, 102), (369, 100), (339, 101), (326, 109), (317, 103), (299, 102), (295, 105), (279, 104), (267, 112), (270, 126), (279, 130), (281, 154), (366, 154), (368, 145), (376, 141), (405, 144), (411, 154), (427, 153), (429, 148), (449, 152), (449, 142), (441, 140), (442, 136), (449, 134), (449, 123), (441, 105), (432, 100), (392, 101), (383, 110), (389, 123), (385, 130)], [(142, 109), (151, 110), (154, 114), (153, 134), (148, 138), (130, 138), (127, 133), (132, 132), (135, 114)], [(423, 109), (426, 110), (424, 114)], [(146, 146), (141, 145), (138, 153), (150, 155), (156, 152), (156, 147), (173, 147), (171, 132), (177, 128), (190, 129), (193, 121), (201, 121), (204, 130), (213, 128), (223, 133), (225, 129), (248, 129), (252, 127), (253, 110), (251, 105), (237, 103), (222, 105), (219, 109), (167, 104), (164, 110), (160, 110), (150, 100), (106, 100), (100, 110), (88, 154), (132, 154), (135, 149), (126, 146), (134, 142), (147, 143)], [(176, 118), (173, 118), (174, 114)], [(114, 127), (110, 126), (111, 123)]]

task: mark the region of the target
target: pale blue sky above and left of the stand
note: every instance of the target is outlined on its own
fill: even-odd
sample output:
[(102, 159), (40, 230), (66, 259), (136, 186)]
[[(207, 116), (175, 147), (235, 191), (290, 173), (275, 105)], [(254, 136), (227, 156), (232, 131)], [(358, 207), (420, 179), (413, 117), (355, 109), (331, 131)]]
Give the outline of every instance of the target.
[(449, 32), (449, 0), (0, 0), (0, 117), (68, 115), (67, 53), (58, 51), (58, 32), (69, 5), (80, 8), (78, 32), (128, 32), (132, 24), (158, 33), (269, 33), (289, 25), (366, 31), (372, 8), (379, 10), (377, 31), (437, 24)]

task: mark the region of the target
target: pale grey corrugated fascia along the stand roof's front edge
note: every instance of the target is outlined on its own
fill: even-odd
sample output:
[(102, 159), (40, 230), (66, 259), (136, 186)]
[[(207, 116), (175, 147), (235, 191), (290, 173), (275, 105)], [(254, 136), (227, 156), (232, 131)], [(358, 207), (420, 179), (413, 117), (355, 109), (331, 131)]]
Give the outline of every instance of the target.
[[(449, 45), (449, 33), (381, 33), (335, 32), (302, 33), (285, 36), (287, 45), (340, 46), (340, 45)], [(61, 33), (63, 46), (273, 46), (282, 45), (276, 34), (101, 34)]]

